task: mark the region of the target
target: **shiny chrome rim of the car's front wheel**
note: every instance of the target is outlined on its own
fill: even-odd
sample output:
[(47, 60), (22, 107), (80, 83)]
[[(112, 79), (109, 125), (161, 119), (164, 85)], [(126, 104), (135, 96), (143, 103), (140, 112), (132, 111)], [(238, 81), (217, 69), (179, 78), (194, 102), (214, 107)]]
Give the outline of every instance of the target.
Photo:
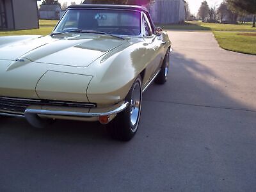
[(131, 130), (135, 132), (138, 125), (138, 120), (140, 118), (140, 109), (141, 109), (141, 86), (139, 82), (136, 82), (132, 90), (131, 95), (131, 111), (130, 111), (130, 120), (131, 120)]

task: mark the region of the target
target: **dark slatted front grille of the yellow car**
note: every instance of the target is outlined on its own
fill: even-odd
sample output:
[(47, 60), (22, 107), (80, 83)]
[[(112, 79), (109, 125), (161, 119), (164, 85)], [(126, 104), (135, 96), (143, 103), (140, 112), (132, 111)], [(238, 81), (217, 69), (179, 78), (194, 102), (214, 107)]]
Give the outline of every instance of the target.
[(0, 111), (23, 114), (28, 106), (62, 106), (70, 108), (96, 108), (97, 104), (59, 100), (19, 99), (0, 97)]

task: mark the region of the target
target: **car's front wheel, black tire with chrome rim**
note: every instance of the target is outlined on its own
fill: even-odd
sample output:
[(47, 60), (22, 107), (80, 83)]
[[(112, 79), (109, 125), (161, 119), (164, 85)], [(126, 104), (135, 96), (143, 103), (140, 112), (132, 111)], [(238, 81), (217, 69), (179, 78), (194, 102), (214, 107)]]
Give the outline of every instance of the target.
[[(135, 102), (134, 100), (138, 101), (139, 97), (140, 103)], [(121, 113), (118, 113), (116, 117), (107, 125), (108, 134), (113, 139), (120, 141), (131, 140), (138, 130), (142, 100), (142, 85), (140, 76), (137, 77), (132, 84), (131, 90), (129, 91), (125, 100), (129, 102), (129, 106)], [(132, 115), (132, 113), (134, 114)], [(137, 118), (134, 117), (136, 116), (136, 113), (138, 113)]]

